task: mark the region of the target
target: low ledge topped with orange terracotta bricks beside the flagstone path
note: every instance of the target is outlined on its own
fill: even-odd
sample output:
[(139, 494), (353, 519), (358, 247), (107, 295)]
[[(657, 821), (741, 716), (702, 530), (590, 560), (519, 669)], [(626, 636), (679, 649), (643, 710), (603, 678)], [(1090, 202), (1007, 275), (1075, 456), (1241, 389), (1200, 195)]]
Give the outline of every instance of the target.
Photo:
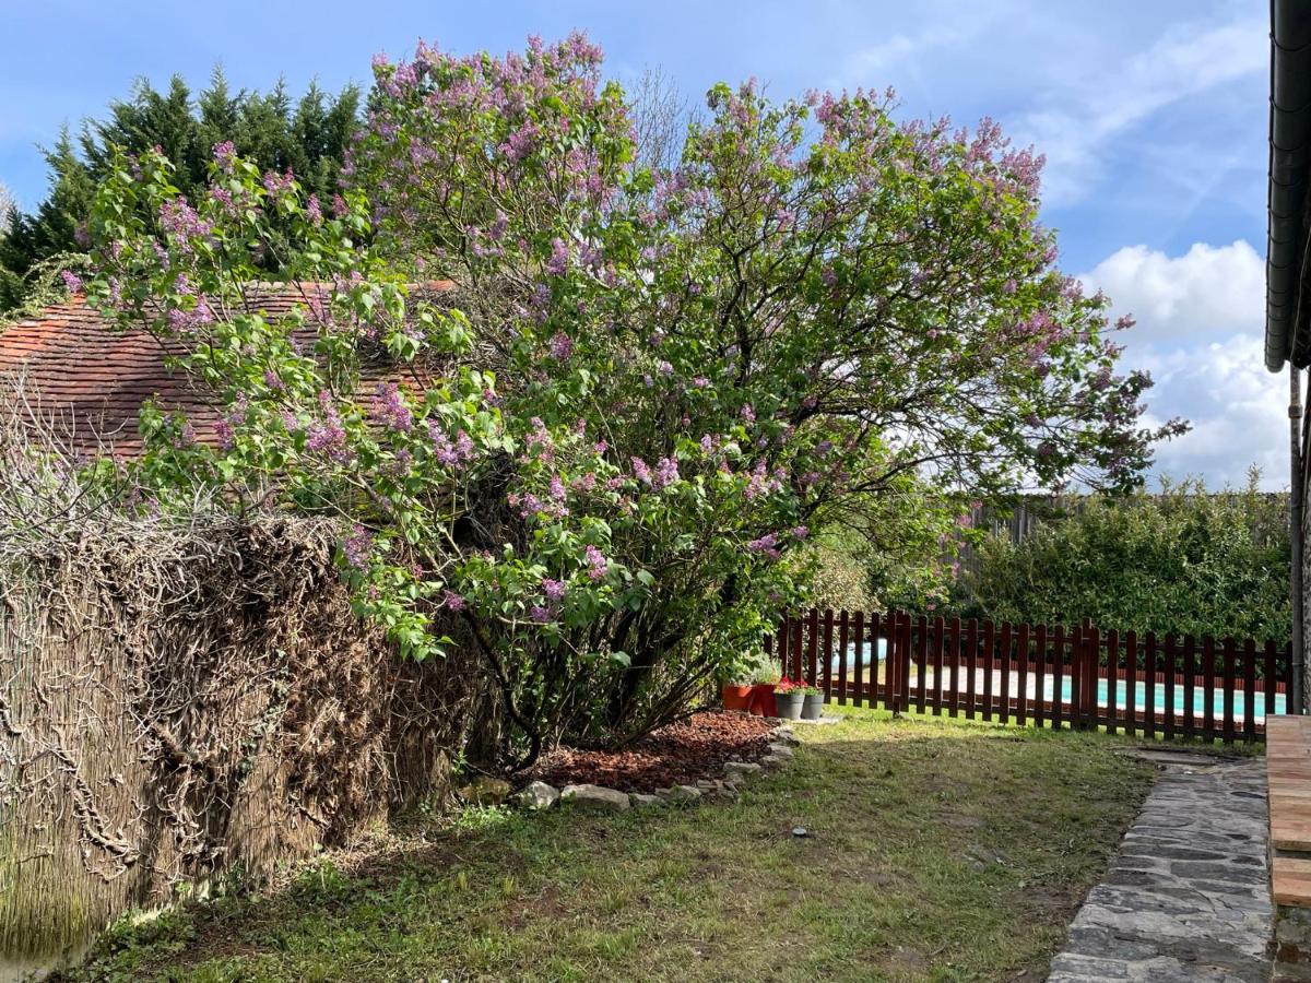
[(1268, 717), (1274, 979), (1311, 980), (1311, 717)]

